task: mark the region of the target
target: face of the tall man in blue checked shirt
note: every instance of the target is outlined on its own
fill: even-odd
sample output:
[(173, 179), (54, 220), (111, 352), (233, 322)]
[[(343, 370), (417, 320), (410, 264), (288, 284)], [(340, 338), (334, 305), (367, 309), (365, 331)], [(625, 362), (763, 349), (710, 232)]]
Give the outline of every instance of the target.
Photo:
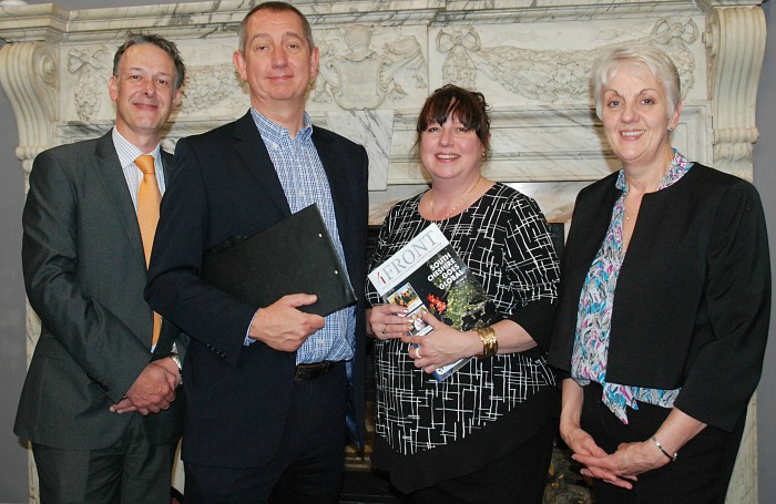
[(318, 72), (318, 48), (310, 49), (295, 12), (256, 11), (246, 27), (245, 53), (234, 64), (251, 88), (251, 104), (262, 113), (304, 106)]

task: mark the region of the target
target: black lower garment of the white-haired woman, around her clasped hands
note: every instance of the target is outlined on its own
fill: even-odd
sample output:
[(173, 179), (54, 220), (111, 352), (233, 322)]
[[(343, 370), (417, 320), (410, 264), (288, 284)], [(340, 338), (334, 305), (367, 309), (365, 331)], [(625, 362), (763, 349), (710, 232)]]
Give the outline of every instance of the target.
[[(620, 443), (649, 440), (671, 413), (671, 409), (640, 402), (639, 410), (627, 410), (626, 425), (603, 404), (601, 393), (596, 383), (584, 388), (582, 429), (609, 453), (616, 451)], [(595, 503), (723, 504), (744, 422), (742, 418), (733, 432), (706, 426), (680, 450), (676, 462), (640, 474), (633, 490), (594, 480)]]

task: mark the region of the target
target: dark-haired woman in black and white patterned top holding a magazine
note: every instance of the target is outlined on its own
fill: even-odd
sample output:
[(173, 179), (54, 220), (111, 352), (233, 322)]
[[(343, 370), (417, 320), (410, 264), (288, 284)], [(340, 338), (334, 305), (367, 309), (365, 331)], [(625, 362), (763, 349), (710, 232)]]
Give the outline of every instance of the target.
[[(370, 269), (433, 222), (498, 312), (498, 346), (487, 331), (459, 331), (429, 313), (433, 331), (409, 336), (400, 307), (367, 287), (374, 465), (413, 502), (540, 503), (550, 463), (559, 394), (544, 356), (558, 259), (537, 204), (481, 175), (489, 128), (481, 93), (447, 85), (429, 96), (417, 131), (432, 188), (390, 209), (371, 258)], [(430, 374), (461, 358), (471, 359), (446, 380)]]

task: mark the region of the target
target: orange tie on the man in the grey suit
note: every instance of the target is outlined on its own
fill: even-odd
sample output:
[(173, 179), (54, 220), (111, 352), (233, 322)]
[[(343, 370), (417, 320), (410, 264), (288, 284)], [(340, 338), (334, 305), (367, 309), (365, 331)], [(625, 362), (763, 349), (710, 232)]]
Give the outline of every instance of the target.
[[(145, 253), (145, 267), (151, 260), (151, 249), (154, 245), (156, 234), (156, 223), (159, 223), (159, 205), (162, 202), (162, 193), (156, 183), (154, 171), (154, 156), (142, 155), (135, 160), (135, 164), (143, 172), (143, 181), (137, 189), (137, 224), (140, 224), (140, 236), (143, 239), (143, 251)], [(151, 348), (159, 341), (159, 333), (162, 329), (162, 316), (154, 311), (154, 329), (151, 339)]]

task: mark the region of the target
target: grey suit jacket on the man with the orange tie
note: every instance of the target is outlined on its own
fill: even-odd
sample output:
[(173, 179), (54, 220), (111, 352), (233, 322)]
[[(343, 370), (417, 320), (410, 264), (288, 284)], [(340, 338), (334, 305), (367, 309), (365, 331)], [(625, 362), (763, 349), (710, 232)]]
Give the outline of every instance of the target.
[[(169, 177), (173, 157), (164, 153)], [(22, 216), (22, 268), (41, 335), (14, 432), (63, 450), (115, 443), (133, 415), (111, 413), (143, 368), (186, 337), (166, 321), (152, 354), (152, 310), (137, 219), (111, 133), (41, 153)], [(181, 436), (184, 398), (144, 418), (155, 444)]]

